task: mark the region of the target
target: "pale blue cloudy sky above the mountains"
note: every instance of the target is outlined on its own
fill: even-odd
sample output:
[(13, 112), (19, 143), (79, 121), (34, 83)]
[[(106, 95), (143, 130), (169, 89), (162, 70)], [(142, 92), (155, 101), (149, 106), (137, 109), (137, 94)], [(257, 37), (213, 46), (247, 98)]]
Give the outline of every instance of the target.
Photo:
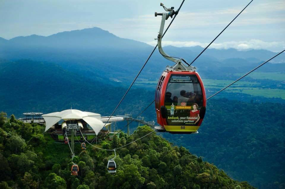
[[(160, 2), (175, 7), (174, 0), (0, 0), (0, 37), (99, 27), (118, 37), (156, 45), (161, 17)], [(249, 3), (249, 0), (185, 0), (162, 45), (208, 45)], [(169, 18), (166, 26), (170, 23)], [(285, 1), (254, 0), (210, 46), (211, 48), (285, 49)]]

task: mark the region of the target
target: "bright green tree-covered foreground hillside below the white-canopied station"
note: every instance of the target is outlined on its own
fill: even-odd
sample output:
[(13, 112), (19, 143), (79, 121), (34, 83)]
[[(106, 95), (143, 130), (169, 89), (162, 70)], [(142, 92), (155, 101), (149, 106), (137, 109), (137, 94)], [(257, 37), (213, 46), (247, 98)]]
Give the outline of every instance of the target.
[[(117, 150), (117, 173), (106, 171), (110, 152), (89, 147), (73, 158), (80, 171), (71, 176), (68, 145), (43, 136), (41, 125), (23, 124), (14, 116), (6, 120), (2, 112), (0, 127), (0, 188), (253, 188), (155, 133)], [(114, 149), (151, 130), (138, 127), (131, 136), (121, 133), (100, 147)], [(75, 147), (79, 154), (80, 144)]]

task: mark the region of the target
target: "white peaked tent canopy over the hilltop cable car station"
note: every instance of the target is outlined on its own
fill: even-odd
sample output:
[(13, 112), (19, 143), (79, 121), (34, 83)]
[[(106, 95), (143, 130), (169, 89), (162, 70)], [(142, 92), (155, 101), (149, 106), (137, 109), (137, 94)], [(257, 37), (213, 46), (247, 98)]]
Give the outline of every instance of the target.
[[(50, 127), (55, 125), (61, 119), (70, 120), (70, 119), (83, 119), (86, 123), (88, 123), (92, 129), (95, 131), (96, 135), (100, 132), (100, 130), (104, 127), (105, 123), (101, 120), (100, 114), (95, 114), (87, 111), (80, 110), (64, 110), (61, 112), (53, 112), (49, 114), (44, 114), (42, 117), (45, 119), (45, 131), (47, 131)], [(105, 126), (110, 125), (111, 123), (107, 123)]]

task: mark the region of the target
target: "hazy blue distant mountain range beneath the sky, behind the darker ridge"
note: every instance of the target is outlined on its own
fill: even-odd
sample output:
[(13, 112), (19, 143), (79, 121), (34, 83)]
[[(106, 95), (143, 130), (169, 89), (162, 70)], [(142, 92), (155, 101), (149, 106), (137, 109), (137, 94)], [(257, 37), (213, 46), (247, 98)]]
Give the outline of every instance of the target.
[[(30, 35), (10, 40), (0, 38), (1, 59), (53, 62), (95, 80), (104, 78), (104, 81), (123, 81), (127, 84), (132, 81), (152, 49), (146, 43), (120, 38), (97, 27), (65, 31), (47, 37)], [(200, 46), (164, 48), (169, 55), (183, 57), (188, 62), (202, 49)], [(201, 76), (221, 78), (225, 72), (244, 73), (274, 55), (276, 53), (267, 50), (207, 49), (193, 65), (197, 66)], [(283, 64), (268, 64), (259, 70), (284, 71), (284, 62), (285, 54), (281, 54), (271, 63)], [(172, 62), (155, 51), (140, 78), (157, 80), (168, 64)]]

